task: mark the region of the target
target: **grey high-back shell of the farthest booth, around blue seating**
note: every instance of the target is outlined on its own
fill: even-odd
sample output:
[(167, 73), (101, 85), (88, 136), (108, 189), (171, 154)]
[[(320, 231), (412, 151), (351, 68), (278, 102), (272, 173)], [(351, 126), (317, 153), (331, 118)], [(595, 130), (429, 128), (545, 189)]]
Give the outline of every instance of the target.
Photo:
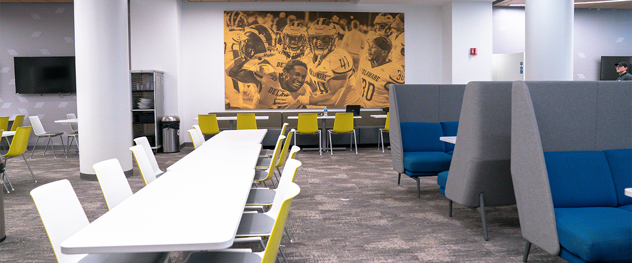
[[(393, 169), (404, 173), (400, 122), (456, 122), (465, 85), (391, 85), (389, 137)], [(439, 139), (439, 138), (437, 138)]]

